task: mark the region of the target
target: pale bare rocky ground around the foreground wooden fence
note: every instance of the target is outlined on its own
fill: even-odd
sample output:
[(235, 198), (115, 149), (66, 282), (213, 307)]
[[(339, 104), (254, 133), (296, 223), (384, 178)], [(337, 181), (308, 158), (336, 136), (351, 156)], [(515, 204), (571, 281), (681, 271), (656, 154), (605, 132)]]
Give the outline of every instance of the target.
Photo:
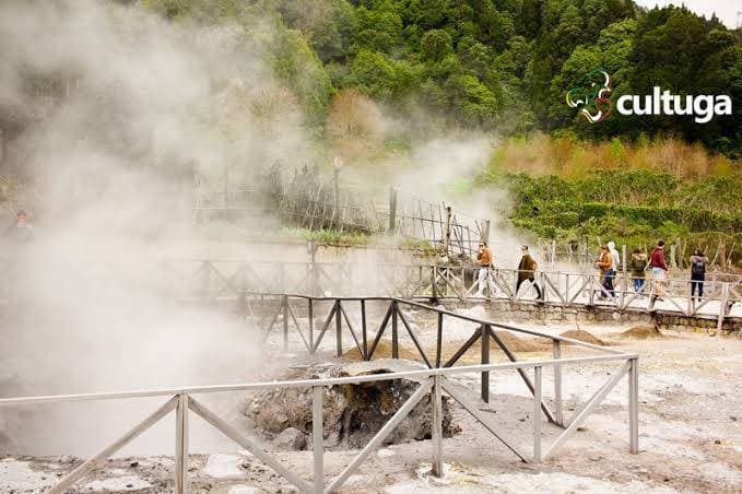
[[(470, 309), (476, 314), (481, 308)], [(409, 313), (426, 349), (435, 341), (424, 314)], [(521, 325), (522, 326), (522, 325)], [(451, 326), (451, 345), (466, 340), (470, 327)], [(568, 326), (533, 327), (546, 332), (574, 330)], [(742, 339), (716, 339), (699, 333), (664, 333), (661, 338), (622, 334), (628, 327), (582, 327), (606, 344), (638, 352), (640, 358), (640, 452), (628, 452), (627, 383), (622, 383), (588, 419), (585, 427), (541, 464), (521, 463), (458, 405), (454, 419), (461, 432), (444, 440), (446, 475), (428, 474), (429, 440), (386, 446), (372, 455), (352, 475), (342, 492), (740, 492), (742, 485)], [(647, 336), (640, 332), (639, 337)], [(296, 340), (298, 341), (298, 340)], [(296, 342), (292, 339), (292, 343)], [(523, 343), (523, 342), (521, 342)], [(526, 341), (529, 343), (529, 341)], [(403, 340), (410, 349), (410, 341)], [(521, 358), (547, 355), (543, 346), (518, 353)], [(333, 342), (327, 342), (328, 350)], [(573, 350), (567, 350), (570, 354)], [(474, 362), (479, 346), (467, 362)], [(493, 361), (502, 358), (493, 349)], [(299, 361), (297, 353), (296, 360)], [(608, 379), (617, 364), (590, 364), (564, 370), (566, 415)], [(479, 375), (458, 379), (479, 389)], [(544, 370), (544, 393), (551, 397), (551, 372)], [(515, 372), (493, 373), (492, 399), (480, 403), (496, 417), (504, 436), (525, 451), (532, 451), (532, 401)], [(560, 430), (543, 424), (544, 449)], [(172, 436), (170, 436), (172, 437)], [(103, 446), (103, 445), (102, 445)], [(266, 448), (292, 470), (311, 478), (311, 451)], [(352, 460), (357, 451), (326, 454), (326, 482)], [(44, 492), (80, 460), (72, 457), (20, 457), (0, 459), (0, 492)], [(74, 491), (164, 493), (173, 491), (172, 457), (118, 457), (81, 481)], [(189, 482), (193, 493), (243, 494), (294, 492), (249, 452), (225, 445), (211, 455), (189, 457)]]

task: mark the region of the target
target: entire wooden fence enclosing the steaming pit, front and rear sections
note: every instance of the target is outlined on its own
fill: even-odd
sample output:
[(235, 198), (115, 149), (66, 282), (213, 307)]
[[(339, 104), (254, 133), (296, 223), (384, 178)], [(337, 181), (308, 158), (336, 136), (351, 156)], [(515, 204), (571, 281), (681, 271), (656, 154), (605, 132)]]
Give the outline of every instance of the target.
[[(262, 294), (256, 296), (264, 296)], [(164, 397), (167, 401), (156, 409), (153, 413), (143, 419), (136, 426), (130, 428), (126, 434), (114, 443), (104, 447), (98, 454), (94, 455), (92, 458), (84, 461), (82, 464), (76, 467), (66, 477), (63, 477), (55, 486), (52, 486), (50, 493), (62, 493), (67, 489), (74, 485), (75, 482), (84, 478), (87, 473), (101, 468), (105, 460), (117, 451), (119, 451), (123, 446), (136, 439), (148, 428), (153, 426), (155, 423), (163, 420), (170, 412), (175, 411), (175, 492), (182, 494), (188, 490), (188, 435), (189, 435), (189, 415), (195, 413), (196, 415), (203, 419), (209, 425), (222, 432), (226, 437), (231, 438), (233, 442), (248, 450), (256, 458), (261, 460), (264, 464), (275, 471), (279, 475), (291, 482), (299, 491), (307, 493), (330, 493), (335, 492), (340, 489), (343, 483), (349, 479), (349, 477), (355, 472), (358, 467), (368, 458), (368, 456), (377, 449), (385, 440), (385, 438), (394, 430), (394, 427), (411, 412), (411, 410), (423, 399), (423, 397), (432, 393), (431, 407), (432, 407), (432, 451), (431, 451), (431, 463), (433, 474), (437, 477), (444, 475), (444, 458), (445, 448), (443, 440), (443, 395), (446, 393), (451, 397), (456, 402), (458, 402), (469, 414), (471, 414), (476, 422), (481, 423), (485, 430), (498, 442), (500, 442), (507, 450), (513, 452), (519, 460), (525, 462), (539, 463), (544, 459), (550, 458), (555, 455), (556, 451), (572, 437), (577, 428), (585, 422), (585, 420), (592, 414), (596, 409), (600, 405), (608, 393), (615, 388), (615, 386), (625, 377), (628, 380), (628, 450), (629, 452), (638, 451), (638, 355), (633, 353), (624, 353), (611, 349), (605, 349), (601, 346), (591, 345), (577, 340), (570, 340), (564, 337), (552, 336), (542, 333), (539, 331), (525, 330), (511, 326), (499, 325), (497, 322), (472, 318), (467, 316), (461, 316), (458, 314), (449, 313), (444, 309), (434, 308), (417, 304), (412, 301), (397, 299), (397, 298), (316, 298), (298, 295), (287, 295), (278, 294), (276, 297), (280, 298), (279, 313), (283, 311), (283, 325), (284, 325), (284, 336), (287, 336), (288, 331), (288, 311), (291, 311), (294, 324), (296, 324), (295, 330), (301, 333), (305, 332), (303, 328), (296, 321), (293, 316), (293, 310), (298, 306), (306, 306), (309, 315), (308, 320), (314, 320), (315, 310), (323, 306), (325, 308), (331, 307), (326, 322), (320, 330), (317, 342), (314, 345), (307, 344), (305, 348), (309, 353), (317, 350), (319, 342), (321, 342), (323, 336), (327, 333), (327, 328), (331, 321), (335, 322), (335, 338), (338, 343), (339, 353), (342, 354), (342, 326), (343, 320), (346, 324), (345, 330), (353, 336), (353, 340), (356, 348), (362, 351), (364, 360), (370, 360), (374, 356), (374, 349), (376, 343), (384, 334), (387, 325), (391, 326), (392, 330), (392, 341), (396, 338), (396, 331), (398, 329), (397, 320), (399, 319), (405, 329), (409, 331), (410, 336), (415, 340), (413, 330), (410, 325), (404, 319), (403, 311), (400, 310), (400, 305), (405, 305), (409, 307), (415, 307), (420, 310), (432, 311), (437, 318), (437, 350), (435, 353), (435, 360), (428, 358), (422, 348), (417, 345), (420, 350), (420, 356), (422, 361), (426, 364), (427, 368), (421, 368), (420, 370), (408, 370), (408, 372), (396, 372), (389, 374), (372, 374), (372, 375), (360, 375), (352, 377), (338, 377), (338, 378), (327, 378), (327, 379), (304, 379), (304, 380), (282, 380), (282, 381), (264, 381), (264, 383), (247, 383), (247, 384), (236, 384), (236, 385), (215, 385), (215, 386), (200, 386), (200, 387), (179, 387), (179, 388), (168, 388), (168, 389), (153, 389), (153, 390), (139, 390), (139, 391), (128, 391), (128, 392), (104, 392), (104, 393), (86, 393), (86, 395), (64, 395), (64, 396), (46, 396), (46, 397), (24, 397), (24, 398), (4, 398), (0, 399), (1, 407), (21, 407), (21, 405), (44, 405), (54, 404), (60, 402), (71, 402), (71, 401), (96, 401), (96, 400), (120, 400), (120, 399), (136, 399), (136, 398), (152, 398), (152, 397)], [(364, 310), (364, 306), (367, 303), (382, 303), (389, 304), (389, 308), (386, 316), (382, 318), (382, 324), (379, 330), (374, 336), (374, 344), (368, 345), (369, 338), (366, 337), (367, 319)], [(362, 330), (363, 330), (363, 344), (360, 342), (355, 330), (350, 321), (349, 311), (353, 310), (352, 305), (360, 304), (357, 309), (361, 313)], [(294, 308), (292, 308), (294, 307)], [(356, 314), (353, 314), (356, 316)], [(482, 363), (480, 365), (467, 365), (467, 366), (455, 366), (458, 357), (466, 352), (462, 348), (456, 352), (456, 354), (448, 361), (444, 361), (441, 356), (440, 345), (441, 336), (445, 331), (444, 325), (447, 318), (459, 318), (472, 322), (478, 326), (478, 329), (473, 331), (473, 334), (469, 341), (464, 344), (466, 348), (470, 348), (473, 342), (478, 339), (482, 339), (483, 342), (487, 342), (490, 338), (498, 344), (503, 352), (507, 355), (510, 362), (500, 364), (488, 363), (488, 352), (490, 345), (482, 345)], [(263, 329), (264, 337), (270, 336), (272, 327), (274, 326), (275, 318), (273, 321)], [(311, 322), (310, 322), (311, 325)], [(493, 328), (499, 328), (506, 331), (528, 333), (533, 337), (545, 338), (552, 342), (553, 346), (553, 358), (545, 360), (534, 360), (534, 361), (517, 361), (514, 353), (503, 343), (503, 341), (497, 337), (497, 333), (493, 331)], [(311, 326), (308, 331), (308, 340), (303, 336), (302, 340), (305, 343), (315, 341), (313, 339)], [(287, 339), (284, 340), (287, 348)], [(416, 340), (415, 340), (416, 341)], [(575, 357), (562, 357), (563, 345), (575, 345), (577, 348), (586, 349), (591, 352), (598, 352), (599, 354), (591, 354), (587, 356), (575, 356)], [(392, 357), (398, 357), (398, 355), (392, 355)], [(564, 408), (562, 398), (562, 369), (563, 367), (570, 366), (581, 366), (591, 363), (616, 363), (622, 364), (617, 369), (613, 369), (609, 378), (598, 388), (597, 391), (584, 403), (575, 409), (575, 412), (570, 417), (564, 419)], [(553, 393), (545, 392), (543, 386), (543, 369), (552, 368), (554, 376), (554, 388)], [(480, 410), (476, 403), (476, 398), (471, 397), (471, 392), (468, 388), (457, 383), (457, 375), (466, 375), (476, 373), (481, 375), (482, 383), (482, 398), (484, 401), (488, 400), (490, 397), (490, 374), (493, 372), (508, 372), (516, 370), (520, 378), (528, 386), (532, 397), (532, 415), (531, 423), (525, 424), (523, 427), (528, 427), (530, 431), (527, 437), (532, 437), (532, 443), (530, 443), (529, 449), (532, 452), (526, 452), (523, 445), (516, 444), (513, 437), (508, 434), (502, 432), (502, 427), (498, 421), (493, 420), (492, 416)], [(531, 380), (528, 376), (527, 370), (533, 376)], [(374, 435), (369, 443), (358, 451), (351, 462), (345, 466), (340, 473), (329, 479), (326, 479), (327, 472), (325, 471), (325, 439), (322, 433), (322, 415), (323, 415), (323, 404), (322, 398), (326, 388), (345, 386), (345, 385), (358, 385), (363, 383), (374, 383), (382, 380), (393, 380), (393, 379), (411, 379), (419, 384), (416, 390), (411, 397), (389, 417), (386, 424)], [(279, 461), (273, 455), (264, 450), (258, 439), (252, 437), (245, 431), (231, 425), (224, 419), (220, 417), (212, 410), (207, 408), (196, 398), (196, 395), (205, 393), (217, 393), (217, 392), (234, 392), (234, 391), (254, 391), (254, 390), (266, 390), (275, 388), (310, 388), (311, 389), (311, 427), (313, 427), (313, 478), (303, 479), (297, 475), (291, 466), (287, 466)], [(546, 399), (550, 396), (551, 400)], [(550, 403), (551, 402), (551, 407)], [(547, 426), (557, 427), (560, 430), (555, 439), (546, 445), (545, 449), (542, 445), (543, 436), (543, 421), (544, 416), (549, 424)]]

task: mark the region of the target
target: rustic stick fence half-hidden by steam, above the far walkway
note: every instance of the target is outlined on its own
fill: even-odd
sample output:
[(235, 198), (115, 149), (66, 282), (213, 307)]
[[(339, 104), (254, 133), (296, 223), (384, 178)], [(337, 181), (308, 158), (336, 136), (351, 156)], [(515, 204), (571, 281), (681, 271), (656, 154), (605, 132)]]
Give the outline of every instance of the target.
[[(479, 243), (490, 236), (490, 221), (456, 211), (445, 202), (429, 202), (416, 196), (400, 198), (391, 187), (387, 203), (379, 203), (364, 190), (341, 188), (335, 175), (325, 181), (308, 170), (297, 173), (286, 185), (270, 175), (260, 187), (205, 190), (197, 180), (193, 216), (197, 220), (255, 217), (273, 214), (284, 225), (311, 231), (392, 235), (427, 243), (439, 252), (472, 256)], [(258, 207), (257, 204), (267, 204)]]

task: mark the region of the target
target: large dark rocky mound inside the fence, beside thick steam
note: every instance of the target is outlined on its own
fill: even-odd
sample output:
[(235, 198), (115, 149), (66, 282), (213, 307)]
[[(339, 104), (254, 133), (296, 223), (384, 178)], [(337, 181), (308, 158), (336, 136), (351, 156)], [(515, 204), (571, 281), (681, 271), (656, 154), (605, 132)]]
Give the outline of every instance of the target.
[[(379, 360), (341, 365), (318, 364), (292, 369), (291, 379), (352, 377), (370, 374), (417, 370), (409, 361)], [(378, 380), (332, 386), (322, 395), (322, 436), (330, 449), (360, 449), (378, 433), (420, 385), (415, 378)], [(384, 440), (385, 445), (422, 440), (431, 437), (431, 392), (410, 411)], [(460, 432), (452, 421), (452, 399), (443, 397), (443, 434)], [(280, 388), (252, 395), (244, 414), (256, 431), (273, 442), (278, 449), (303, 449), (311, 445), (311, 388)]]

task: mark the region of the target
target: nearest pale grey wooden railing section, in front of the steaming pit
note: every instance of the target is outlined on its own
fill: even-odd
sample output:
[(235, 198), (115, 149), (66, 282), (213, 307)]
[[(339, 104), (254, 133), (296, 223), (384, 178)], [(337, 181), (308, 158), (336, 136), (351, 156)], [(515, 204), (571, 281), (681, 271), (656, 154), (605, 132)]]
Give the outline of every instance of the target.
[[(561, 386), (562, 366), (585, 364), (593, 362), (623, 362), (623, 365), (586, 401), (581, 408), (577, 409), (567, 421), (568, 425), (564, 431), (546, 447), (542, 445), (542, 397), (543, 397), (543, 368), (552, 367), (554, 370), (554, 400), (561, 410)], [(532, 415), (532, 455), (526, 454), (520, 446), (516, 445), (511, 438), (499, 431), (498, 424), (486, 413), (481, 411), (476, 403), (467, 397), (466, 389), (452, 380), (452, 376), (462, 373), (490, 373), (497, 370), (516, 369), (525, 373), (526, 369), (533, 368), (534, 389), (533, 389), (533, 415)], [(441, 367), (421, 370), (397, 372), (391, 374), (374, 374), (365, 376), (339, 377), (327, 379), (305, 379), (269, 383), (248, 383), (236, 385), (217, 385), (200, 387), (182, 387), (169, 389), (140, 390), (128, 392), (107, 392), (107, 393), (86, 393), (86, 395), (60, 395), (42, 396), (27, 398), (5, 398), (0, 399), (1, 407), (13, 405), (42, 405), (45, 403), (60, 403), (71, 401), (96, 401), (96, 400), (119, 400), (145, 397), (167, 397), (167, 401), (157, 410), (148, 415), (136, 426), (126, 432), (114, 443), (107, 445), (92, 458), (76, 467), (72, 472), (63, 477), (48, 492), (50, 494), (63, 493), (74, 485), (79, 480), (94, 470), (102, 468), (105, 460), (123, 446), (131, 443), (143, 432), (163, 420), (175, 410), (175, 492), (182, 494), (188, 491), (188, 422), (189, 413), (193, 412), (212, 427), (222, 432), (225, 436), (248, 450), (264, 464), (270, 467), (278, 474), (294, 484), (302, 492), (306, 493), (330, 493), (335, 492), (342, 486), (348, 478), (358, 469), (361, 463), (378, 448), (394, 427), (412, 411), (412, 409), (428, 393), (432, 392), (432, 463), (433, 474), (443, 475), (444, 462), (444, 442), (443, 442), (443, 404), (441, 397), (445, 391), (456, 400), (467, 412), (503, 443), (521, 461), (541, 462), (553, 456), (564, 443), (575, 434), (577, 428), (602, 402), (608, 393), (628, 375), (628, 428), (629, 428), (629, 451), (638, 451), (638, 355), (636, 354), (609, 354), (600, 356), (584, 356), (554, 360), (541, 360), (532, 362), (511, 362), (505, 364), (472, 365), (462, 367)], [(322, 398), (325, 388), (343, 385), (354, 385), (362, 383), (374, 383), (392, 379), (413, 379), (420, 383), (417, 389), (408, 398), (400, 409), (389, 419), (389, 421), (376, 433), (370, 442), (357, 454), (357, 456), (330, 482), (326, 482), (325, 471), (325, 448), (322, 435)], [(195, 395), (227, 392), (227, 391), (259, 391), (275, 388), (310, 388), (311, 389), (311, 427), (313, 427), (313, 458), (314, 475), (310, 480), (298, 477), (290, 467), (275, 459), (269, 451), (259, 446), (259, 442), (243, 431), (228, 424), (213, 411), (203, 405), (195, 398)]]

